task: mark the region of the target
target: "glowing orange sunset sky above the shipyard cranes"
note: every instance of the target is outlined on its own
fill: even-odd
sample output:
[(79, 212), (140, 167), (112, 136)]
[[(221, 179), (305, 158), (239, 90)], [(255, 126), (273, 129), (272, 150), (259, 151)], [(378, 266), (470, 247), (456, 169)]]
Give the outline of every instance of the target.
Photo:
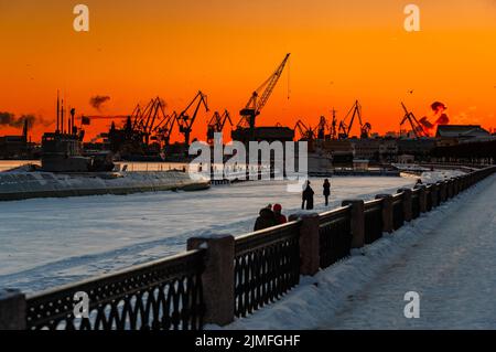
[[(88, 33), (73, 30), (77, 3), (89, 7)], [(421, 9), (420, 32), (403, 29), (408, 3)], [(260, 126), (315, 125), (333, 107), (341, 119), (359, 99), (381, 134), (399, 129), (401, 100), (417, 117), (440, 100), (451, 122), (496, 127), (495, 0), (0, 0), (0, 111), (45, 121), (57, 89), (87, 115), (130, 114), (157, 95), (181, 110), (202, 89), (212, 111), (227, 108), (237, 122), (289, 52)], [(110, 96), (101, 111), (95, 95)], [(205, 139), (211, 116), (193, 137)], [(89, 137), (110, 121), (99, 124)]]

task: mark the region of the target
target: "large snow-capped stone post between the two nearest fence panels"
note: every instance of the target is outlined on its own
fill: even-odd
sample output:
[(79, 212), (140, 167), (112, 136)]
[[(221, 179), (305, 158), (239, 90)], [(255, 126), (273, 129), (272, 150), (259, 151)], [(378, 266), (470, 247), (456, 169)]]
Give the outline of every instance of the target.
[(191, 237), (187, 249), (206, 249), (202, 275), (205, 323), (226, 326), (235, 317), (234, 259), (235, 241), (231, 235)]

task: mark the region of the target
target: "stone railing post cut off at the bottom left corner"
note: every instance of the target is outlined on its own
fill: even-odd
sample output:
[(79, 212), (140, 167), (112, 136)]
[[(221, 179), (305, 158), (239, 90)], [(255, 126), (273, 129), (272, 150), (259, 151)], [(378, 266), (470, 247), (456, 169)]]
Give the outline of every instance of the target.
[(19, 290), (0, 290), (0, 330), (25, 330), (25, 296)]

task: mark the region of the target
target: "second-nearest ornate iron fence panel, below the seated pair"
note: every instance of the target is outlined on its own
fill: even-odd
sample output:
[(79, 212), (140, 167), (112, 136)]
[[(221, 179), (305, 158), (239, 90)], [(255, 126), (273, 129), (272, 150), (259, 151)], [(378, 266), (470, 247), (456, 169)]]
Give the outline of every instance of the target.
[(300, 225), (292, 222), (236, 238), (236, 317), (280, 299), (300, 282)]

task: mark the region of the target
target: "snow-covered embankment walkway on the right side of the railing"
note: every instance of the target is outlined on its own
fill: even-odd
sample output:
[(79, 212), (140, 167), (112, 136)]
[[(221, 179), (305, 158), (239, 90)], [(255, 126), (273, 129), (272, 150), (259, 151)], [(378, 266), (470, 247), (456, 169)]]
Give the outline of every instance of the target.
[[(495, 329), (495, 195), (493, 175), (227, 328)], [(408, 291), (419, 319), (405, 318)]]

